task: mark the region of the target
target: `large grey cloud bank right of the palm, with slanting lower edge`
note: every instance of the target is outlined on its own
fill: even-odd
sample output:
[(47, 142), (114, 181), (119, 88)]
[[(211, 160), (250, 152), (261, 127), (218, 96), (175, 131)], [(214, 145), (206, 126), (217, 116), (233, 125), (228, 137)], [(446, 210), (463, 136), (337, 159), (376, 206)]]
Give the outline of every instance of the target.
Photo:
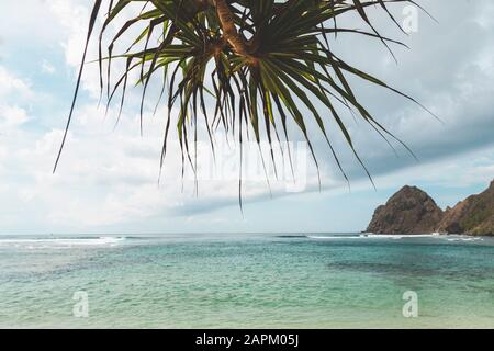
[[(347, 63), (355, 64), (413, 97), (440, 118), (440, 122), (437, 121), (403, 97), (350, 78), (363, 105), (391, 133), (406, 143), (420, 165), (494, 144), (494, 49), (490, 44), (494, 41), (494, 23), (486, 15), (493, 11), (493, 4), (483, 0), (434, 1), (428, 2), (426, 8), (438, 19), (439, 24), (422, 14), (418, 33), (409, 37), (396, 33), (393, 37), (402, 38), (411, 47), (393, 47), (397, 65), (379, 41), (340, 36), (333, 44), (334, 52)], [(397, 10), (400, 21), (401, 11)], [(349, 19), (346, 25), (358, 27), (360, 22)], [(380, 27), (382, 33), (397, 32), (392, 23)], [(395, 157), (386, 143), (366, 123), (357, 124), (345, 111), (341, 110), (341, 113), (346, 115), (357, 150), (374, 177), (402, 168), (419, 167), (393, 138), (390, 137), (390, 141), (400, 157)], [(364, 172), (348, 151), (337, 127), (335, 124), (333, 126), (328, 129), (334, 131), (330, 136), (348, 173), (353, 181), (364, 178)], [(324, 140), (319, 139), (316, 148), (322, 154), (326, 148), (323, 146)], [(329, 178), (340, 178), (334, 162), (325, 162), (324, 167)]]

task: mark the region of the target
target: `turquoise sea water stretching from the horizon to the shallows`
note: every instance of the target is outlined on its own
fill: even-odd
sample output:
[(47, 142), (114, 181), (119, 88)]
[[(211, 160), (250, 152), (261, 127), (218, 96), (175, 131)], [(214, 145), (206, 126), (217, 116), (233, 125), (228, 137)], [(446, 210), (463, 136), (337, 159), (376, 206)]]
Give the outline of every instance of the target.
[(2, 237), (0, 327), (494, 328), (494, 239)]

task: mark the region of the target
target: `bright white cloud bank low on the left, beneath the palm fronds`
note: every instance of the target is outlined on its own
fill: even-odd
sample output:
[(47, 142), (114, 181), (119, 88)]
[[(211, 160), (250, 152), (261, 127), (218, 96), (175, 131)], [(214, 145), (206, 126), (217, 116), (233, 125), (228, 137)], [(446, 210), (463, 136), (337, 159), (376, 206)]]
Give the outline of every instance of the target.
[[(186, 208), (202, 211), (237, 202), (236, 180), (201, 182), (201, 196), (195, 197), (194, 183), (189, 179), (182, 192), (179, 145), (172, 139), (158, 186), (161, 121), (146, 120), (148, 133), (141, 137), (137, 115), (123, 115), (119, 128), (112, 132), (115, 118), (114, 109), (103, 120), (101, 109), (79, 106), (55, 174), (52, 167), (63, 131), (53, 129), (34, 138), (21, 131), (18, 141), (10, 138), (2, 152), (2, 163), (10, 169), (0, 177), (10, 184), (11, 199), (35, 204), (45, 223), (71, 229), (124, 225), (157, 215), (175, 217), (188, 215), (189, 211), (182, 213)], [(21, 184), (19, 179), (24, 177), (29, 181)], [(263, 181), (247, 184), (245, 201), (266, 192)]]

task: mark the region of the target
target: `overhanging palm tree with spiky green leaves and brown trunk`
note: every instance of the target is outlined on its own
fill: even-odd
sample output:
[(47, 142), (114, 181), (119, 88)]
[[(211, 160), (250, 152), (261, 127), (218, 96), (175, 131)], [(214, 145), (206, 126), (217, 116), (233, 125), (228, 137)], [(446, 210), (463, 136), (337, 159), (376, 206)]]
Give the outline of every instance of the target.
[[(214, 134), (218, 126), (238, 138), (239, 143), (250, 131), (257, 143), (267, 138), (272, 145), (273, 138), (279, 140), (280, 135), (289, 140), (287, 125), (294, 123), (304, 135), (317, 166), (307, 133), (307, 124), (315, 123), (347, 178), (326, 133), (326, 116), (336, 122), (357, 160), (364, 166), (336, 104), (349, 109), (386, 140), (388, 137), (395, 138), (359, 103), (348, 76), (413, 99), (337, 57), (329, 43), (338, 34), (351, 33), (375, 38), (388, 48), (390, 44), (403, 45), (382, 36), (368, 15), (370, 7), (378, 7), (400, 26), (389, 10), (391, 3), (417, 5), (412, 0), (110, 0), (99, 36), (101, 92), (106, 90), (110, 103), (121, 91), (122, 112), (128, 76), (134, 70), (138, 71), (138, 83), (144, 87), (142, 121), (149, 80), (159, 75), (162, 83), (160, 99), (166, 98), (168, 107), (161, 167), (167, 152), (171, 111), (178, 106), (177, 133), (182, 160), (191, 160), (189, 143), (197, 141), (198, 123), (206, 126), (213, 152)], [(142, 4), (142, 9), (113, 35), (103, 57), (103, 34), (109, 31), (109, 24), (131, 4)], [(101, 8), (102, 0), (96, 0), (67, 128), (74, 113), (86, 52)], [(369, 30), (341, 26), (341, 16), (351, 13), (358, 14)], [(113, 54), (115, 44), (127, 36), (137, 23), (144, 23), (144, 31), (133, 38), (127, 50)], [(156, 34), (159, 34), (159, 39), (153, 43)], [(125, 60), (125, 70), (112, 86), (112, 60), (115, 59)], [(105, 73), (104, 61), (108, 64)], [(210, 111), (211, 116), (206, 105), (214, 106), (214, 113)], [(302, 109), (310, 111), (310, 114), (304, 114)], [(64, 144), (65, 137), (60, 152)], [(271, 148), (274, 163), (272, 155)]]

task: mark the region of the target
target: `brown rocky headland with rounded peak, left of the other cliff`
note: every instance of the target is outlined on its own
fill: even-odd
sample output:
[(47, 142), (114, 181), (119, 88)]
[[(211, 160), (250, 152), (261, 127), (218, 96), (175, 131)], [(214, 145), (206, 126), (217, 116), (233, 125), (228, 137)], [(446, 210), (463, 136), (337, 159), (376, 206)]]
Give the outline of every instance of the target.
[(442, 210), (424, 191), (404, 186), (379, 206), (367, 231), (374, 234), (425, 234), (436, 230)]

